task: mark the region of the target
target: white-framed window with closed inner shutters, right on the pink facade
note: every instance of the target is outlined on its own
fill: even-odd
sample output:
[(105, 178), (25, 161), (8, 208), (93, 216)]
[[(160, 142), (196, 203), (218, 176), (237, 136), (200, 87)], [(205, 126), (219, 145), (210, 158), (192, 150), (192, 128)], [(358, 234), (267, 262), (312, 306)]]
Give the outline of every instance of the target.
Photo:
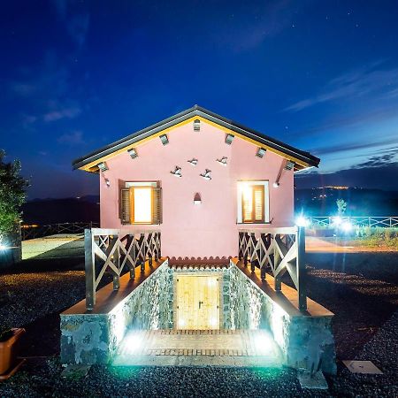
[(238, 182), (238, 223), (269, 222), (268, 181)]

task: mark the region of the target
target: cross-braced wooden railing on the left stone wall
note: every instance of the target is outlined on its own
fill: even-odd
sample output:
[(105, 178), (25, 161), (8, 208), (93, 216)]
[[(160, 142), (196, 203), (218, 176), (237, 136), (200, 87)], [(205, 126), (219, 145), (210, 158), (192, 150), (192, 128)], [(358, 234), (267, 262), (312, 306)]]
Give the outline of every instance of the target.
[(86, 308), (92, 310), (96, 304), (96, 289), (104, 272), (113, 275), (113, 290), (119, 290), (119, 278), (125, 271), (135, 277), (135, 267), (145, 270), (152, 259), (161, 256), (160, 232), (136, 232), (119, 229), (93, 228), (84, 233), (86, 267)]

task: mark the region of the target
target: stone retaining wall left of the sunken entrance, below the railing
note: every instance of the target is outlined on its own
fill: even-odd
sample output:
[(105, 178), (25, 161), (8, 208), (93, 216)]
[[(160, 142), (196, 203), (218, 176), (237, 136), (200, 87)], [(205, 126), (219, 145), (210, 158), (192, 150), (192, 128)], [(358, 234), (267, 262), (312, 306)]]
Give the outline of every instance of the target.
[(128, 328), (172, 327), (172, 270), (167, 260), (106, 314), (61, 314), (63, 364), (107, 364)]

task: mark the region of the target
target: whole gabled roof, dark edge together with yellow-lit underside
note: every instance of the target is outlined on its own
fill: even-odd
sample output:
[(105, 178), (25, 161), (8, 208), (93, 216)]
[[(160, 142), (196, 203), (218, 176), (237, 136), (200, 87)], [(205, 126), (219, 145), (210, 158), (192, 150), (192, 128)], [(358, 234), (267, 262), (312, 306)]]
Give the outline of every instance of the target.
[(186, 111), (182, 111), (162, 120), (152, 126), (143, 128), (134, 134), (127, 135), (119, 141), (112, 142), (111, 144), (97, 149), (94, 152), (89, 153), (85, 157), (80, 157), (73, 161), (73, 169), (86, 170), (88, 172), (96, 172), (98, 170), (97, 165), (106, 159), (116, 156), (119, 153), (131, 149), (136, 145), (146, 142), (149, 139), (165, 134), (176, 126), (189, 123), (194, 119), (203, 119), (212, 125), (217, 125), (226, 133), (236, 135), (243, 140), (252, 142), (253, 144), (264, 147), (271, 150), (272, 152), (278, 153), (282, 157), (286, 157), (288, 160), (295, 162), (295, 170), (302, 170), (306, 167), (316, 166), (318, 167), (318, 157), (312, 156), (309, 152), (305, 152), (300, 149), (296, 149), (286, 143), (279, 142), (267, 135), (256, 132), (249, 127), (242, 126), (233, 120), (226, 119), (212, 111), (208, 111), (201, 106), (195, 105)]

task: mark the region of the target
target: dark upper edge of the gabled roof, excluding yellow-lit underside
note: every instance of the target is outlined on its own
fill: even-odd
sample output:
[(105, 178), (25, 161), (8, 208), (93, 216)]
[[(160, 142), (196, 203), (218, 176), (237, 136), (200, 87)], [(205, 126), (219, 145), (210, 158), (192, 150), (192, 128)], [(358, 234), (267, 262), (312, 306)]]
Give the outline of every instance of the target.
[(142, 130), (139, 130), (134, 134), (127, 135), (125, 138), (122, 138), (116, 142), (112, 142), (111, 144), (106, 145), (101, 149), (96, 149), (95, 151), (89, 153), (84, 157), (79, 157), (73, 160), (73, 169), (80, 169), (81, 167), (93, 163), (96, 160), (99, 161), (102, 157), (111, 155), (111, 153), (115, 152), (116, 150), (123, 149), (129, 145), (134, 144), (135, 142), (140, 142), (145, 138), (149, 138), (153, 134), (157, 134), (160, 131), (165, 130), (165, 128), (172, 127), (179, 124), (180, 122), (183, 122), (184, 120), (190, 119), (195, 116), (201, 116), (203, 119), (208, 119), (213, 123), (224, 126), (237, 134), (241, 134), (251, 140), (258, 142), (259, 144), (264, 144), (269, 148), (278, 150), (286, 154), (287, 157), (293, 157), (302, 160), (302, 162), (305, 162), (309, 166), (318, 167), (318, 164), (320, 162), (320, 159), (318, 159), (318, 157), (314, 157), (309, 152), (296, 149), (290, 145), (287, 145), (284, 142), (280, 142), (267, 135), (261, 134), (256, 130), (253, 130), (252, 128), (242, 126), (241, 124), (236, 123), (231, 119), (226, 119), (223, 116), (218, 115), (217, 113), (209, 111), (199, 105), (195, 105), (192, 108), (181, 111), (180, 113), (177, 113), (170, 118), (159, 121), (152, 126), (143, 128)]

